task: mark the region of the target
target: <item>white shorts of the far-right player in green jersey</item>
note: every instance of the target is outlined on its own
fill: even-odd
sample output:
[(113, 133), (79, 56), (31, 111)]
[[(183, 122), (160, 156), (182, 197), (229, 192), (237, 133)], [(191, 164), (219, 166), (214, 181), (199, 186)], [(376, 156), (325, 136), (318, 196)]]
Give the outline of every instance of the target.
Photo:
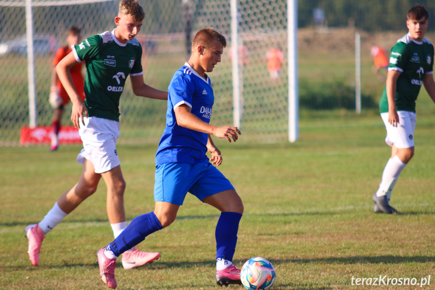
[(393, 146), (394, 144), (394, 146), (401, 149), (414, 147), (414, 131), (417, 114), (409, 111), (397, 111), (397, 114), (399, 115), (399, 125), (394, 127), (388, 122), (388, 112), (381, 113), (385, 129), (387, 129), (385, 142), (389, 146)]

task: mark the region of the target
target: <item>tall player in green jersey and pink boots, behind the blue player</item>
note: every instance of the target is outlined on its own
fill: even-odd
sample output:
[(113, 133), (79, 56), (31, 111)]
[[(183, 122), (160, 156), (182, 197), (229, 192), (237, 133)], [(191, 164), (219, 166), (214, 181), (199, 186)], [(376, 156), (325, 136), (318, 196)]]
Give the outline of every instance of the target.
[[(56, 66), (57, 75), (73, 103), (71, 120), (83, 141), (77, 161), (83, 164), (80, 181), (66, 191), (44, 219), (26, 227), (29, 258), (39, 264), (42, 241), (65, 216), (96, 190), (101, 178), (107, 186), (107, 214), (114, 237), (126, 227), (123, 195), (126, 182), (122, 177), (116, 141), (119, 136), (119, 98), (130, 75), (133, 92), (138, 96), (167, 100), (167, 92), (144, 83), (141, 65), (142, 47), (135, 39), (145, 13), (137, 0), (122, 0), (115, 18), (116, 28), (73, 45)], [(86, 62), (85, 95), (83, 102), (74, 87), (70, 68)], [(135, 248), (122, 255), (126, 269), (158, 259), (159, 253), (142, 252)]]

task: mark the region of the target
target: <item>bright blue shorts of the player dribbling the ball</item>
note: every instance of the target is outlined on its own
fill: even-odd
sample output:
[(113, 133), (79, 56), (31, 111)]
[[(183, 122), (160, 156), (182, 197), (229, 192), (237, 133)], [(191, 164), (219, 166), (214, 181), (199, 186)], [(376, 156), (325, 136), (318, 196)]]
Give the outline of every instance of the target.
[(199, 200), (234, 189), (211, 163), (166, 163), (156, 166), (154, 201), (182, 205), (190, 192)]

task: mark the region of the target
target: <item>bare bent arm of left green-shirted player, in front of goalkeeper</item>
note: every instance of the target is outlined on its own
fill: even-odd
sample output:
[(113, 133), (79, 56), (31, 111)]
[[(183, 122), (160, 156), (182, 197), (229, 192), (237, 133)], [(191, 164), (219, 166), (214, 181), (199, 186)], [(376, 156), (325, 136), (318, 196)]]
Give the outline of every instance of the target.
[(80, 128), (80, 120), (84, 123), (84, 116), (88, 117), (88, 110), (85, 104), (82, 102), (76, 88), (74, 87), (73, 78), (71, 77), (70, 69), (77, 65), (78, 62), (73, 52), (70, 52), (64, 57), (56, 66), (57, 76), (70, 96), (73, 103), (73, 110), (71, 113), (71, 121), (75, 128)]

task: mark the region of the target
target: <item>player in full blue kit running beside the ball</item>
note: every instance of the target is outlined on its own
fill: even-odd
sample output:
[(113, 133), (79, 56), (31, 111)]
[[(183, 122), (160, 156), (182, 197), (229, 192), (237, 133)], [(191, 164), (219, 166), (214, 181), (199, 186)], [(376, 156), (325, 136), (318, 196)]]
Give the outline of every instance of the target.
[(110, 288), (116, 287), (116, 258), (169, 226), (188, 192), (221, 211), (215, 233), (216, 282), (240, 284), (240, 270), (231, 261), (243, 203), (231, 183), (213, 166), (222, 163), (222, 156), (211, 135), (235, 142), (241, 133), (237, 127), (209, 124), (214, 96), (206, 73), (221, 61), (225, 46), (225, 37), (214, 29), (200, 30), (192, 41), (189, 62), (175, 72), (169, 84), (166, 128), (156, 154), (155, 209), (133, 219), (113, 242), (97, 252), (101, 279)]

